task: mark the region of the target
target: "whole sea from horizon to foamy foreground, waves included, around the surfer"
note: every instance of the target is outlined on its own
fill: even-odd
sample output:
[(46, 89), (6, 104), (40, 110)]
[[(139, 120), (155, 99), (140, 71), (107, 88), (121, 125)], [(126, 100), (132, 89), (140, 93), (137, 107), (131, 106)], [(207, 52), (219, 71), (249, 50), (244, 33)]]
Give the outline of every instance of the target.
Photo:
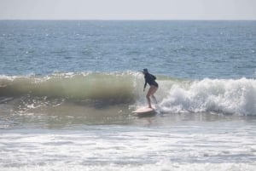
[(253, 171), (255, 51), (255, 21), (1, 20), (0, 170)]

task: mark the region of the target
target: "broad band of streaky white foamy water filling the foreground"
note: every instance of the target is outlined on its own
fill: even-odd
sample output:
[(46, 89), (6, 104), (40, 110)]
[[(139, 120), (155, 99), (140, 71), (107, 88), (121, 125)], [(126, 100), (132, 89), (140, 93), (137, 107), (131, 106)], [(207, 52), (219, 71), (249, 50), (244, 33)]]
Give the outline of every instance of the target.
[(0, 170), (253, 170), (255, 126), (221, 126), (7, 130)]

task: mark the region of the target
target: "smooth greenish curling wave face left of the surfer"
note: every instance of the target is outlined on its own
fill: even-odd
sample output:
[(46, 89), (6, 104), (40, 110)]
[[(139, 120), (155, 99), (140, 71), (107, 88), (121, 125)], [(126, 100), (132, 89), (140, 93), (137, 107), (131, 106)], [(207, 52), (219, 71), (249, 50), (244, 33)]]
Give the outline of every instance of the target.
[(124, 73), (55, 73), (47, 77), (6, 77), (0, 79), (0, 96), (25, 94), (69, 100), (116, 100), (127, 102), (133, 97), (133, 79)]

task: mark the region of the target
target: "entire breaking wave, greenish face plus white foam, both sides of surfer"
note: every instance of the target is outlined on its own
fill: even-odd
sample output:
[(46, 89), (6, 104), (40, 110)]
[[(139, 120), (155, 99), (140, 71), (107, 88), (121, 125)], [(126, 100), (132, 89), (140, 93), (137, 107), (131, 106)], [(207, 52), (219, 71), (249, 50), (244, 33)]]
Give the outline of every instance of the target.
[[(162, 111), (256, 115), (254, 79), (157, 77), (160, 88), (155, 95)], [(47, 99), (47, 103), (39, 104), (49, 106), (63, 100), (124, 104), (126, 107), (146, 105), (143, 83), (143, 74), (135, 71), (55, 73), (44, 77), (0, 76), (0, 103), (26, 97), (23, 100), (29, 101), (29, 106), (38, 98)]]

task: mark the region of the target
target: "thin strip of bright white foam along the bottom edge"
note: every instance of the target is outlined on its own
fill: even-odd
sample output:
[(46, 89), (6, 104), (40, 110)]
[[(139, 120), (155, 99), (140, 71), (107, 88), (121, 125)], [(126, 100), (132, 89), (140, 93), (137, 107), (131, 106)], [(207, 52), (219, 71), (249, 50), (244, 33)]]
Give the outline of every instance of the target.
[(51, 165), (44, 166), (23, 166), (20, 168), (3, 168), (2, 171), (45, 171), (45, 170), (60, 170), (60, 171), (237, 171), (237, 170), (247, 170), (254, 171), (255, 166), (250, 163), (193, 163), (193, 164), (180, 164), (176, 162), (159, 162), (157, 164), (145, 164), (145, 165), (119, 165), (109, 163), (106, 165), (67, 165), (60, 163), (55, 163)]

